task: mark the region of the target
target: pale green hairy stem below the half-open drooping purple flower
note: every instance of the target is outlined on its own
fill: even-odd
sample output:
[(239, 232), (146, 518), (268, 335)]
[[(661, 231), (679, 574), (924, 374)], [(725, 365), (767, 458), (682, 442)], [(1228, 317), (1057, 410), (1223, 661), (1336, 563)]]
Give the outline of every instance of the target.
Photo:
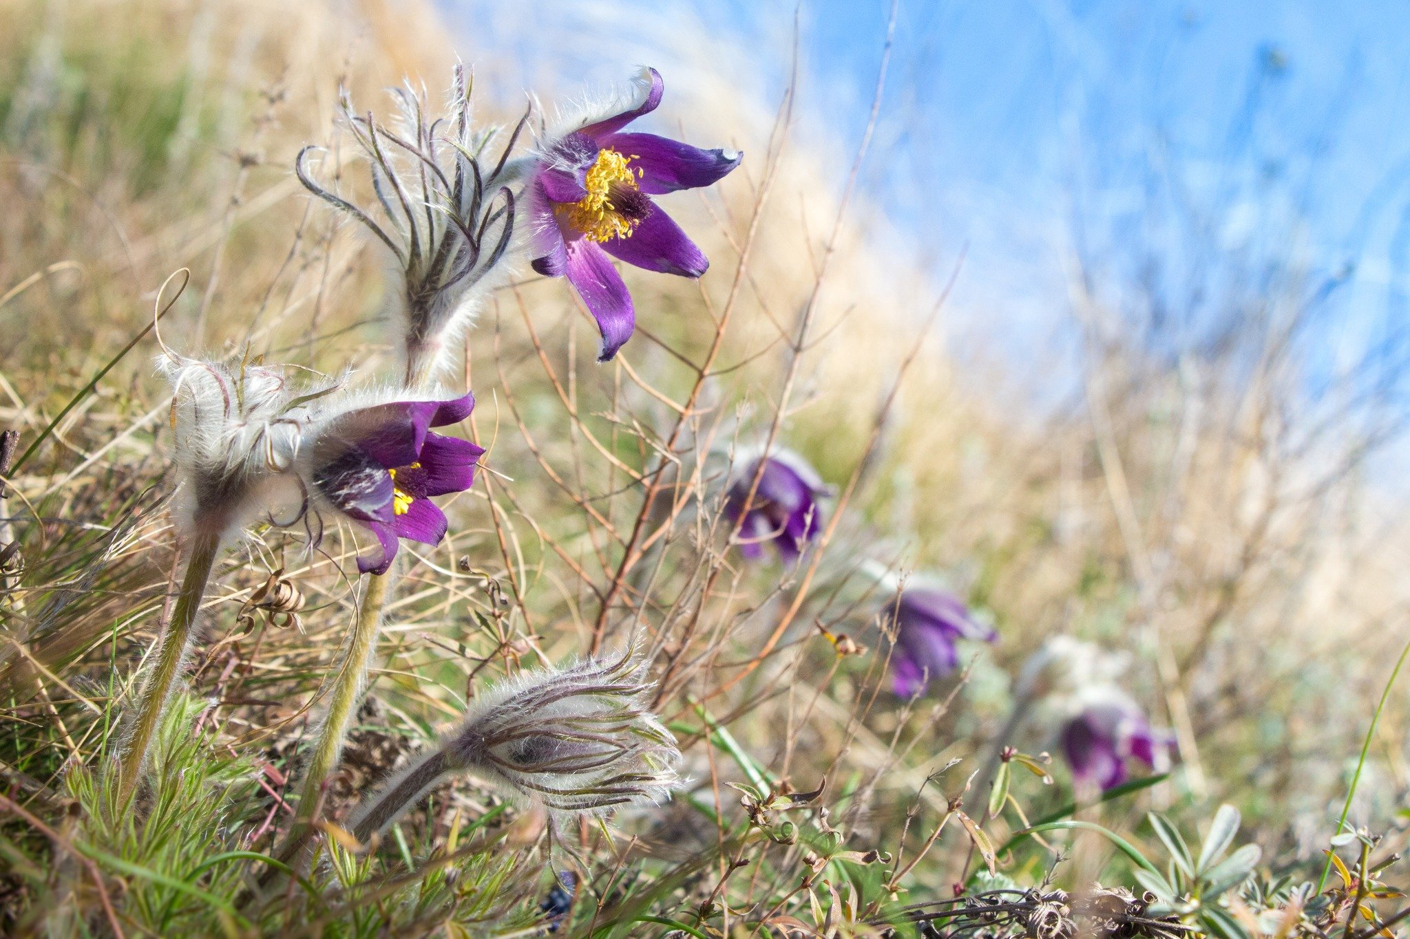
[(309, 757), (309, 769), (305, 771), (303, 791), (299, 797), (299, 824), (290, 829), (285, 839), (285, 852), (296, 850), (303, 842), (307, 825), (314, 821), (312, 814), (323, 793), (323, 783), (337, 766), (343, 752), (343, 738), (355, 717), (362, 681), (372, 662), (372, 653), (376, 650), (382, 607), (386, 603), (393, 577), (395, 566), (385, 574), (368, 574), (367, 590), (362, 591), (362, 603), (348, 636), (347, 653), (338, 664), (337, 674), (333, 676), (333, 690), (329, 695), (329, 710), (323, 718), (323, 728), (319, 731), (317, 743), (314, 743)]

